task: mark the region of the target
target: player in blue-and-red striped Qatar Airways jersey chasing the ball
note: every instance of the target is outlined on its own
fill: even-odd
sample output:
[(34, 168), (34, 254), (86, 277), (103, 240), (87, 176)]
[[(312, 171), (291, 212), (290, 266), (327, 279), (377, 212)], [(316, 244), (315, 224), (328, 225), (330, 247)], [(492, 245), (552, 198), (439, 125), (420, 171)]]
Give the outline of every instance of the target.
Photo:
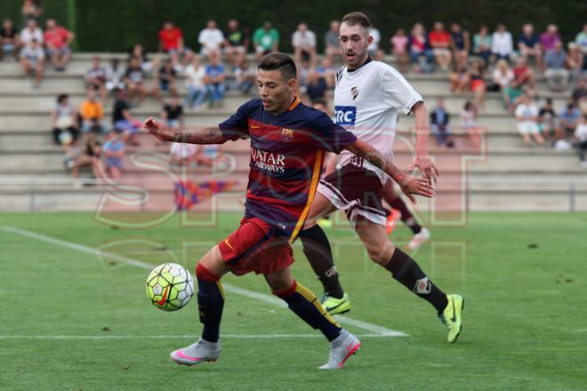
[(221, 276), (255, 272), (265, 276), (273, 294), (330, 341), (328, 362), (320, 369), (338, 369), (360, 347), (360, 341), (328, 315), (310, 290), (294, 280), (290, 243), (304, 225), (318, 186), (326, 151), (343, 149), (363, 156), (396, 180), (406, 195), (434, 196), (428, 180), (399, 172), (376, 149), (336, 125), (321, 111), (305, 106), (295, 95), (294, 60), (271, 53), (259, 60), (260, 98), (249, 100), (218, 127), (173, 132), (154, 118), (146, 132), (159, 140), (193, 144), (222, 144), (250, 139), (251, 162), (245, 217), (240, 226), (199, 260), (196, 268), (197, 304), (202, 336), (189, 347), (175, 350), (176, 363), (215, 361), (224, 292)]

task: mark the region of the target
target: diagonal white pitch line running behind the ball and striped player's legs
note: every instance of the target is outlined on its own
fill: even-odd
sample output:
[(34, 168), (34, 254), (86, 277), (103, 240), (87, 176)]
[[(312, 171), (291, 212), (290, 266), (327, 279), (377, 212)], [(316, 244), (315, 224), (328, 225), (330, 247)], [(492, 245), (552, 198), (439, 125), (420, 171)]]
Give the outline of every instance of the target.
[[(77, 244), (73, 242), (68, 242), (65, 240), (57, 239), (55, 237), (37, 234), (33, 231), (28, 231), (27, 229), (21, 229), (17, 227), (2, 227), (2, 229), (6, 232), (11, 232), (12, 234), (28, 236), (30, 238), (45, 242), (45, 243), (52, 243), (55, 245), (59, 245), (61, 247), (66, 247), (72, 250), (85, 252), (92, 255), (102, 256), (109, 259), (115, 259), (119, 262), (133, 265), (135, 267), (141, 267), (146, 270), (151, 270), (154, 265), (151, 265), (146, 262), (142, 262), (141, 260), (132, 259), (128, 257), (124, 257), (122, 255), (117, 255), (112, 252), (107, 251), (98, 251), (96, 249), (92, 249), (91, 247), (85, 246), (84, 244)], [(276, 297), (266, 295), (264, 293), (259, 293), (256, 291), (249, 291), (247, 289), (238, 288), (237, 286), (230, 285), (228, 283), (222, 283), (225, 291), (229, 291), (231, 293), (235, 293), (241, 296), (245, 296), (252, 299), (258, 299), (261, 301), (265, 301), (266, 303), (273, 304), (279, 307), (287, 307), (285, 302), (281, 299), (277, 299)], [(351, 326), (358, 327), (359, 329), (363, 329), (365, 331), (369, 331), (374, 334), (379, 334), (382, 337), (408, 337), (408, 334), (402, 331), (391, 330), (386, 327), (378, 326), (373, 323), (367, 323), (363, 321), (358, 321), (356, 319), (352, 319), (348, 316), (344, 315), (334, 315), (334, 318), (339, 321), (340, 323), (350, 324)]]

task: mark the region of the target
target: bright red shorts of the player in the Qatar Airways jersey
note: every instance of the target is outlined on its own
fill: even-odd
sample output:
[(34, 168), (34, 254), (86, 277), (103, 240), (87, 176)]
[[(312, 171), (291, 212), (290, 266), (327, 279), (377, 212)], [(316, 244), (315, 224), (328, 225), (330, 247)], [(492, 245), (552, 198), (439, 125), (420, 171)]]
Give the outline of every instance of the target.
[(294, 263), (287, 237), (276, 235), (262, 219), (245, 218), (240, 227), (218, 243), (222, 259), (235, 275), (270, 275)]

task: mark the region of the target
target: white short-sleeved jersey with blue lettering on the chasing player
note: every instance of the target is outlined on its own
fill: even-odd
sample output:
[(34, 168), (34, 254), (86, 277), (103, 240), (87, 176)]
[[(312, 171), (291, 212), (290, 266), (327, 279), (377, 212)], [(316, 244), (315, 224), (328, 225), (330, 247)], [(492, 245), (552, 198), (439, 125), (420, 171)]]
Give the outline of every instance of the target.
[[(414, 104), (421, 100), (422, 96), (414, 91), (404, 76), (380, 61), (369, 60), (353, 71), (342, 67), (336, 73), (336, 124), (379, 149), (390, 160), (393, 160), (398, 110), (409, 114)], [(338, 167), (346, 164), (375, 172), (382, 184), (388, 180), (385, 172), (344, 150)]]

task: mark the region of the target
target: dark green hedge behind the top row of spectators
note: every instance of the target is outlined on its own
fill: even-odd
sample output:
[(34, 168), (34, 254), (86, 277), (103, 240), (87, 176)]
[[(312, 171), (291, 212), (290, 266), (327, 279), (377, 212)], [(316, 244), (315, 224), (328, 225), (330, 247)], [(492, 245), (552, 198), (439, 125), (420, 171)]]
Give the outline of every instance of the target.
[[(9, 16), (20, 21), (21, 0), (0, 1), (0, 17)], [(205, 21), (214, 18), (221, 28), (231, 18), (241, 20), (251, 31), (270, 20), (282, 36), (281, 49), (291, 50), (291, 34), (297, 23), (305, 21), (323, 43), (329, 20), (340, 19), (345, 12), (366, 12), (382, 32), (382, 47), (389, 48), (389, 37), (396, 28), (409, 30), (415, 21), (426, 26), (435, 20), (449, 23), (458, 20), (470, 32), (482, 23), (490, 30), (503, 22), (516, 37), (525, 22), (535, 23), (540, 32), (547, 23), (559, 25), (560, 33), (568, 41), (583, 28), (587, 15), (584, 0), (316, 0), (267, 1), (234, 0), (44, 0), (44, 18), (55, 17), (58, 22), (76, 29), (76, 46), (84, 52), (125, 51), (141, 42), (150, 50), (157, 49), (157, 31), (165, 20), (172, 20), (182, 30), (189, 47), (197, 48), (197, 33)], [(20, 24), (20, 22), (19, 22)]]

